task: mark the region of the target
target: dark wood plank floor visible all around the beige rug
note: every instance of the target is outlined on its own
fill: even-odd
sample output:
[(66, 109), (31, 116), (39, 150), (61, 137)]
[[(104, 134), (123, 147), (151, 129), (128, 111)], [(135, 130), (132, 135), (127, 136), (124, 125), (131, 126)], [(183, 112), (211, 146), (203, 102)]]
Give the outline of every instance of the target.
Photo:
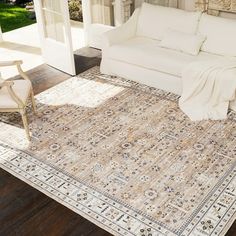
[[(100, 52), (76, 52), (77, 73), (99, 65)], [(70, 75), (47, 65), (27, 72), (35, 93), (40, 93)], [(0, 236), (109, 236), (110, 234), (0, 169)], [(236, 236), (236, 222), (227, 236)]]

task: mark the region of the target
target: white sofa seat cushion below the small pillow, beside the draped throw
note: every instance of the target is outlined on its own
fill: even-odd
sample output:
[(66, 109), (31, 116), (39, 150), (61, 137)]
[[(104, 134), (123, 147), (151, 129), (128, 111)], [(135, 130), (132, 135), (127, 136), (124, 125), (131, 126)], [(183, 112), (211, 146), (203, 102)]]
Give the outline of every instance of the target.
[(160, 41), (135, 37), (109, 48), (109, 58), (147, 69), (181, 76), (182, 70), (196, 60), (219, 58), (200, 52), (197, 56), (159, 47)]

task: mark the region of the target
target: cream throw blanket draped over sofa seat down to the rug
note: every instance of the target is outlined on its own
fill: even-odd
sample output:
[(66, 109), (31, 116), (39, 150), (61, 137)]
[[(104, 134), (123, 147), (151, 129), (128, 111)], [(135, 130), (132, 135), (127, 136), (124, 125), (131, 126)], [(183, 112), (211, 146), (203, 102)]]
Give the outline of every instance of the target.
[(230, 102), (236, 107), (236, 59), (193, 62), (182, 83), (179, 106), (193, 121), (226, 119)]

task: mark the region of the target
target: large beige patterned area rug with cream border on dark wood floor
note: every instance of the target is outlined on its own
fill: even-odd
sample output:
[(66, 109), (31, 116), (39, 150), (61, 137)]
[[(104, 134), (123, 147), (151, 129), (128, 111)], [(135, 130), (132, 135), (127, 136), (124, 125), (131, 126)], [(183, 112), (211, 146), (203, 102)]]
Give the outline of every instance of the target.
[(1, 116), (6, 171), (114, 235), (224, 235), (233, 223), (234, 113), (191, 122), (175, 95), (98, 67), (36, 99), (31, 143), (10, 125), (18, 115)]

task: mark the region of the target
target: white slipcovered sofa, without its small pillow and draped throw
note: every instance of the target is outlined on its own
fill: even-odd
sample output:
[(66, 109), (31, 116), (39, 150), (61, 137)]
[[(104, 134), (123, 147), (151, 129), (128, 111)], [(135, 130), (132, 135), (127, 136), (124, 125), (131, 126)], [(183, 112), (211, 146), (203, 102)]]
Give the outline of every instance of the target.
[[(197, 55), (160, 47), (168, 29), (206, 37)], [(236, 59), (236, 20), (144, 3), (103, 35), (101, 72), (181, 95), (181, 74), (197, 60)]]

